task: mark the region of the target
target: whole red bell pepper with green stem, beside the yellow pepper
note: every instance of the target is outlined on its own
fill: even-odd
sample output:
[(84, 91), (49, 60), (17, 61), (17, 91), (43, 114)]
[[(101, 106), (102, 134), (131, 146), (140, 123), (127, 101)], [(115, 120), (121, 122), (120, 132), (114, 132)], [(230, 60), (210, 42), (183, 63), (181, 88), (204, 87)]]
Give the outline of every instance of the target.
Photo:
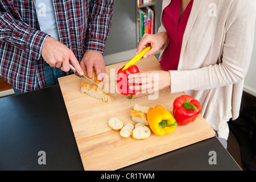
[(195, 121), (200, 114), (200, 102), (188, 95), (182, 95), (174, 100), (174, 118), (178, 125), (187, 125)]

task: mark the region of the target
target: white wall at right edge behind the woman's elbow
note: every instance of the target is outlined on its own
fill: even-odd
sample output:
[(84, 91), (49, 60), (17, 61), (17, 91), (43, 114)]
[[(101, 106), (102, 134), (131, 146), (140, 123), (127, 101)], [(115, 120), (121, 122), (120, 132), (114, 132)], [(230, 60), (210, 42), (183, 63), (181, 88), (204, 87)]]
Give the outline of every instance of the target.
[(245, 84), (243, 86), (243, 90), (256, 97), (256, 28), (255, 28), (254, 37), (255, 38), (254, 38), (253, 55), (251, 56), (251, 63), (250, 63), (249, 71), (245, 77)]

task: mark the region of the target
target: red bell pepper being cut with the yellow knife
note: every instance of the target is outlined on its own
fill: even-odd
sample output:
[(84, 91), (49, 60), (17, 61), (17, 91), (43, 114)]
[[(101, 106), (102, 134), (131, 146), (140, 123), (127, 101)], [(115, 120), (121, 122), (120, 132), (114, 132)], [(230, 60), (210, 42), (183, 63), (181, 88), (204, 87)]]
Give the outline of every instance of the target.
[(117, 72), (117, 88), (121, 94), (125, 96), (129, 95), (128, 98), (131, 99), (133, 95), (136, 94), (139, 90), (129, 89), (129, 86), (133, 86), (134, 84), (128, 82), (128, 76), (133, 73), (138, 73), (139, 68), (137, 65), (131, 65), (129, 68), (122, 71), (123, 67)]

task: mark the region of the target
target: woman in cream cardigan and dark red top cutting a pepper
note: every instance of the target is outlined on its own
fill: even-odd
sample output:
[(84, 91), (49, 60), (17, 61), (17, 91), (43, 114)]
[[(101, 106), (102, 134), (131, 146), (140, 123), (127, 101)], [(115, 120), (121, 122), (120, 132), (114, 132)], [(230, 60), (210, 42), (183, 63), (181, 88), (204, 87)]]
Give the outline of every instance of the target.
[(138, 78), (157, 73), (154, 91), (170, 87), (199, 100), (201, 114), (226, 147), (227, 121), (239, 115), (255, 14), (255, 0), (163, 0), (158, 34), (144, 35), (137, 49), (151, 45), (144, 58), (162, 49), (163, 71), (131, 75), (130, 82), (142, 84), (140, 94), (151, 92), (151, 84), (141, 81), (147, 79)]

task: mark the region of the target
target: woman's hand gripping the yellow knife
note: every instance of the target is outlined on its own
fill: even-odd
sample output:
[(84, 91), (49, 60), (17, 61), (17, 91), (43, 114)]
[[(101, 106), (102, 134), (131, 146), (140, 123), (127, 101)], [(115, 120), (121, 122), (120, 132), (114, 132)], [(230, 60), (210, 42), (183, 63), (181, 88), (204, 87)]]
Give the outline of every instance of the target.
[(147, 46), (151, 46), (151, 49), (144, 54), (142, 58), (153, 55), (155, 52), (158, 52), (160, 48), (164, 46), (167, 42), (168, 36), (167, 32), (160, 32), (158, 34), (144, 34), (141, 42), (138, 45), (136, 55), (142, 51), (142, 49)]

